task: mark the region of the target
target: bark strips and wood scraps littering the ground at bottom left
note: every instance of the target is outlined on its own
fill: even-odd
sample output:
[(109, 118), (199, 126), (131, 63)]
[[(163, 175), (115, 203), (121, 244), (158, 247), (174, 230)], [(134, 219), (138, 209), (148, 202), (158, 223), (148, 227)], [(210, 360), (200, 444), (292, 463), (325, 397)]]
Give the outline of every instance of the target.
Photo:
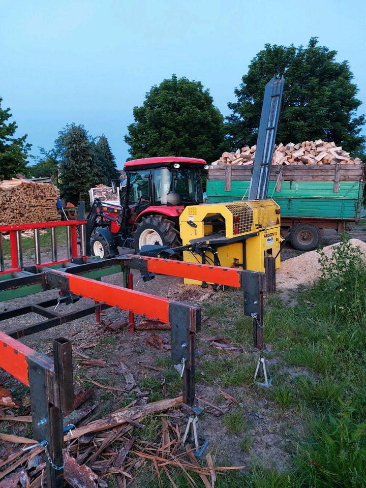
[[(87, 390), (80, 392), (80, 398), (85, 398), (88, 394), (86, 392)], [(193, 455), (193, 448), (186, 445), (182, 449), (185, 424), (181, 417), (185, 414), (174, 409), (181, 402), (182, 398), (179, 396), (132, 406), (75, 429), (65, 467), (67, 483), (73, 488), (107, 488), (108, 477), (113, 475), (117, 486), (127, 488), (128, 483), (138, 479), (139, 469), (143, 464), (151, 463), (155, 476), (161, 479), (161, 471), (164, 471), (172, 486), (175, 486), (172, 470), (179, 469), (187, 478), (187, 486), (194, 486), (191, 474), (197, 473), (205, 487), (214, 488), (218, 473), (242, 469), (242, 466), (215, 466), (209, 454), (206, 456), (206, 463), (203, 461), (207, 466), (201, 466)], [(154, 439), (140, 439), (136, 426), (142, 427), (140, 422), (144, 417), (158, 412), (162, 412), (160, 434)], [(66, 447), (67, 435), (64, 441)], [(27, 442), (34, 441), (28, 439)], [(45, 480), (42, 451), (43, 448), (39, 447), (24, 454), (19, 447), (15, 452), (9, 452), (6, 460), (0, 461), (0, 467), (7, 466), (0, 473), (0, 488), (41, 486), (41, 477)], [(18, 484), (9, 484), (13, 480)]]

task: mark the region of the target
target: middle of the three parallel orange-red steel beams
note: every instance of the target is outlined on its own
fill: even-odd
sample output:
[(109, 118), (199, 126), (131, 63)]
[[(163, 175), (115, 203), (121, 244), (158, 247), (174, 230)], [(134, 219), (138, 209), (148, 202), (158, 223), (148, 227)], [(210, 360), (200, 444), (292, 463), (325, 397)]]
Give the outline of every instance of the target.
[(161, 296), (149, 295), (141, 291), (130, 290), (120, 286), (90, 280), (77, 275), (69, 275), (63, 271), (48, 271), (60, 273), (69, 281), (69, 291), (75, 295), (102, 301), (111, 307), (131, 310), (135, 314), (145, 315), (150, 319), (169, 323), (169, 303), (171, 300)]

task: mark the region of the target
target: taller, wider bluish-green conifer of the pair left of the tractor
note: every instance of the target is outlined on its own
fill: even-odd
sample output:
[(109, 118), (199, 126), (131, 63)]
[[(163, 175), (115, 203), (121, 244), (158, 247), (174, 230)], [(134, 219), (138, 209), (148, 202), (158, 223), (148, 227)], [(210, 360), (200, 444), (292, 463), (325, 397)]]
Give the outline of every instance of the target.
[(59, 160), (60, 192), (77, 204), (88, 200), (88, 191), (100, 183), (94, 142), (82, 125), (67, 125), (55, 141)]

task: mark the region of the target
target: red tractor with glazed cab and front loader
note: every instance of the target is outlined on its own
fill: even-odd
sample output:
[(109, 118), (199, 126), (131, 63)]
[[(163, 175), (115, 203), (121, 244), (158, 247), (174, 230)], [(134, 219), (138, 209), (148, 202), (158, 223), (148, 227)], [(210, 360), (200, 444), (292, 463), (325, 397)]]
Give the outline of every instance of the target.
[[(120, 205), (96, 199), (87, 217), (92, 254), (119, 254), (118, 246), (180, 246), (179, 216), (187, 205), (203, 203), (202, 172), (195, 158), (144, 158), (125, 163), (126, 192)], [(116, 182), (112, 181), (113, 191)]]

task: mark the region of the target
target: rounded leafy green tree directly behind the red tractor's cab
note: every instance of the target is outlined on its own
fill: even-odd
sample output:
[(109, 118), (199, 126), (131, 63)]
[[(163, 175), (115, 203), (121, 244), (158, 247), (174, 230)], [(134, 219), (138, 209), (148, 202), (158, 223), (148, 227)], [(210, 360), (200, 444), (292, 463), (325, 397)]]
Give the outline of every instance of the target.
[(132, 158), (187, 156), (214, 161), (224, 141), (223, 116), (208, 89), (187, 78), (163, 80), (134, 107), (125, 141)]

